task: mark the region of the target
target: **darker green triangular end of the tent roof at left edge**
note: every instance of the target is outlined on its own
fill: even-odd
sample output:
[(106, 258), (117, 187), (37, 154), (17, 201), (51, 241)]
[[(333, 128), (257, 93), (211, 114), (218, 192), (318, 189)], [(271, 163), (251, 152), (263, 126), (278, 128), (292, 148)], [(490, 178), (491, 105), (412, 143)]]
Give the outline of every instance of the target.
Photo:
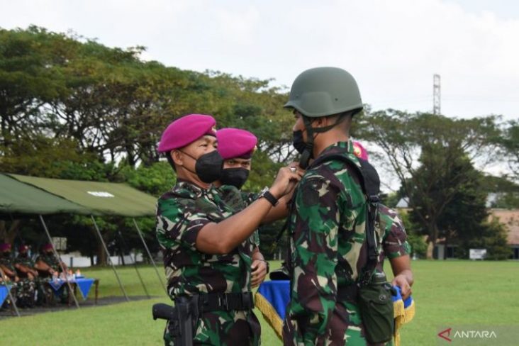
[(20, 214), (56, 214), (77, 213), (89, 215), (92, 212), (84, 206), (49, 194), (6, 174), (0, 174), (0, 213)]

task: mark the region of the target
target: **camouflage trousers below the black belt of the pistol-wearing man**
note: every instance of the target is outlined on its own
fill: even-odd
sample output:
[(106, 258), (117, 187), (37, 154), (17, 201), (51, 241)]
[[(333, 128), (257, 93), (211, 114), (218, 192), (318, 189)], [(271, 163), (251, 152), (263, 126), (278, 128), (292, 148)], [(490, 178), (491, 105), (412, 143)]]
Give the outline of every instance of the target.
[[(164, 345), (174, 346), (168, 324), (164, 330)], [(259, 346), (260, 334), (259, 320), (252, 311), (211, 311), (203, 313), (196, 323), (193, 345)]]

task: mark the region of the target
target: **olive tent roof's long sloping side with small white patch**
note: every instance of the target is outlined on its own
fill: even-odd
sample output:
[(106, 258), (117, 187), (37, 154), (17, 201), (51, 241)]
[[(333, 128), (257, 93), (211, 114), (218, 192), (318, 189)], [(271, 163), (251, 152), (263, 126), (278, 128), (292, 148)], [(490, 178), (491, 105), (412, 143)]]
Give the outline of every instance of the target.
[(155, 216), (157, 199), (126, 184), (9, 175), (19, 182), (36, 186), (84, 206), (93, 214)]

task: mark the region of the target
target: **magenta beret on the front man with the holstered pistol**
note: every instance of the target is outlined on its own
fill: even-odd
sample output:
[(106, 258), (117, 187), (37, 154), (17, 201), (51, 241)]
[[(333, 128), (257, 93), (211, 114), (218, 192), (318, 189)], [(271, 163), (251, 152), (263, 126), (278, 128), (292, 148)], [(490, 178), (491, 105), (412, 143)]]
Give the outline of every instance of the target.
[(173, 121), (162, 133), (158, 152), (169, 152), (193, 143), (203, 135), (216, 135), (216, 120), (204, 114), (189, 114)]

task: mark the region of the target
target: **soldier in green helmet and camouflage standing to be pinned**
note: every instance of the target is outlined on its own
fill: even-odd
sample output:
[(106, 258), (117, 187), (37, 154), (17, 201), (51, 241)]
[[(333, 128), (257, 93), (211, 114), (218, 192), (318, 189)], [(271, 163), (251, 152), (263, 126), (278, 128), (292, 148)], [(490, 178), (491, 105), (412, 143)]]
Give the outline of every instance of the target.
[(306, 173), (289, 214), (284, 345), (366, 345), (356, 298), (367, 264), (366, 196), (352, 167), (337, 160), (360, 167), (349, 135), (362, 110), (357, 82), (337, 67), (308, 69), (285, 107), (294, 111), (294, 147)]

